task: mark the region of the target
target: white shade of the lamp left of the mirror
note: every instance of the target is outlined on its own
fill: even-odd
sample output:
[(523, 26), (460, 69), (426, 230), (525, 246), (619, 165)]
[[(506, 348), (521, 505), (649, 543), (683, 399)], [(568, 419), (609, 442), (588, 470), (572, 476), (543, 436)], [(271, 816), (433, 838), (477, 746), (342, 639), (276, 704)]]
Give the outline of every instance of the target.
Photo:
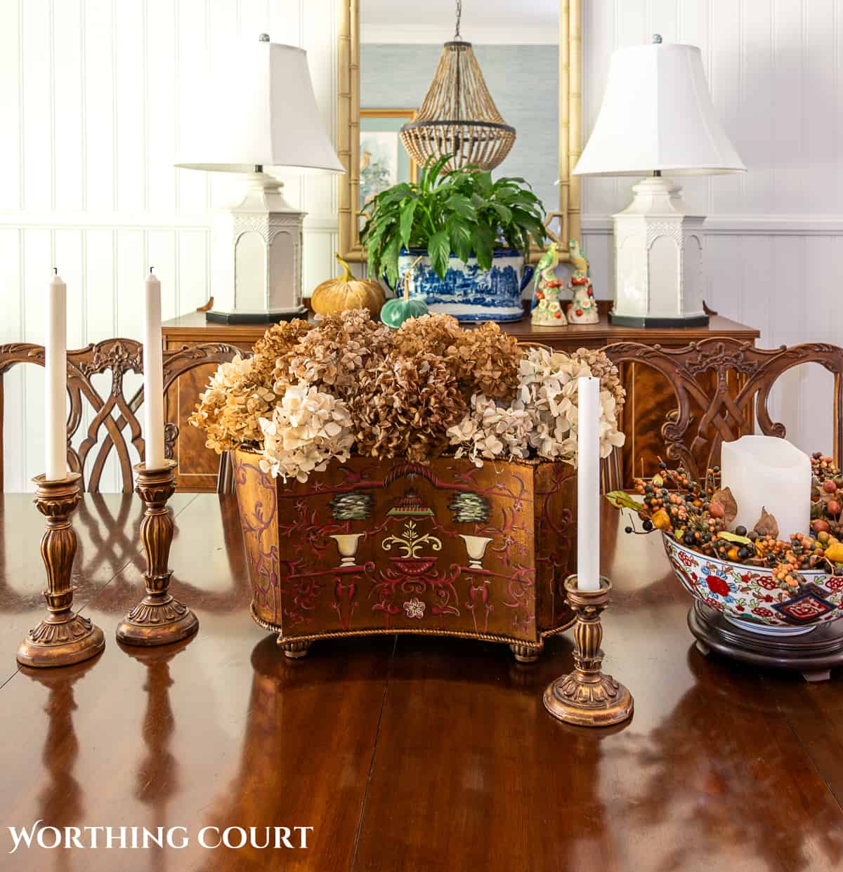
[(238, 42), (212, 59), (204, 85), (182, 119), (176, 167), (345, 172), (319, 114), (304, 50), (257, 37)]

